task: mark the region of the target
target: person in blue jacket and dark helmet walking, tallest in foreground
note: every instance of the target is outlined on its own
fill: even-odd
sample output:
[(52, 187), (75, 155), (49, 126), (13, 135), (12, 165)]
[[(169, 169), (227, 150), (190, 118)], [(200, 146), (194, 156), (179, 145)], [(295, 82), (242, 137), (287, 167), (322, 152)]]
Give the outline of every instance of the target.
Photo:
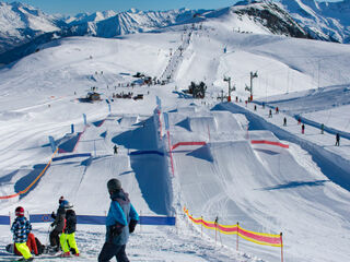
[(138, 224), (139, 215), (118, 179), (110, 179), (107, 189), (112, 202), (106, 217), (106, 241), (98, 255), (98, 262), (109, 261), (113, 257), (116, 257), (118, 262), (129, 262), (125, 249), (129, 234), (133, 233)]

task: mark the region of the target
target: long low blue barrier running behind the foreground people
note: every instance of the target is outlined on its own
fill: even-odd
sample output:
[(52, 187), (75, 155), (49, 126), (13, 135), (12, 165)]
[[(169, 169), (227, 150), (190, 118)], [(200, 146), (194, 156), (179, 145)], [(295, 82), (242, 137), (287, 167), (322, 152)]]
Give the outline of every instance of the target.
[[(10, 225), (10, 216), (0, 216), (0, 225)], [(51, 214), (30, 214), (31, 223), (51, 223)], [(85, 225), (105, 225), (106, 216), (96, 215), (77, 215), (77, 224)], [(148, 226), (175, 226), (176, 218), (174, 216), (140, 216), (140, 225)]]

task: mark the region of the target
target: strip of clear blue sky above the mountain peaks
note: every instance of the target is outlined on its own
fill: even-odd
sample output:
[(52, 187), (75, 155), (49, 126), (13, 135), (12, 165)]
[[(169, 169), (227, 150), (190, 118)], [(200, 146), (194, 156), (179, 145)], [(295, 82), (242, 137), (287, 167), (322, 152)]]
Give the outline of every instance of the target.
[[(13, 0), (0, 0), (13, 2)], [(126, 11), (131, 8), (139, 10), (170, 9), (218, 9), (233, 5), (237, 0), (18, 0), (52, 14), (77, 14), (95, 11)], [(337, 0), (328, 0), (337, 1)]]

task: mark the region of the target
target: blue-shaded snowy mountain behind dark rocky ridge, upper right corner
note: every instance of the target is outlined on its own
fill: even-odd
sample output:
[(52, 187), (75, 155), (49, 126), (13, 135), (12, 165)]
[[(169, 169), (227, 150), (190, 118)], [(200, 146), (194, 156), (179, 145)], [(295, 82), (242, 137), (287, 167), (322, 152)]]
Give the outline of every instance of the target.
[(350, 0), (281, 0), (281, 3), (314, 38), (350, 43)]

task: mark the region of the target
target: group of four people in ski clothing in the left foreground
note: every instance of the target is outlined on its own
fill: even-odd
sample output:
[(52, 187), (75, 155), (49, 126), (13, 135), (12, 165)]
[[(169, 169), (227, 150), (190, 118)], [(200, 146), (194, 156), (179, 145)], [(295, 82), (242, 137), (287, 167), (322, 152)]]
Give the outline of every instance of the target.
[[(118, 179), (110, 179), (107, 182), (110, 198), (109, 211), (106, 217), (106, 238), (100, 252), (98, 262), (109, 261), (113, 257), (118, 262), (129, 262), (126, 254), (126, 245), (129, 235), (133, 233), (139, 222), (139, 215), (132, 206), (128, 193), (121, 188)], [(55, 219), (49, 234), (50, 245), (45, 250), (48, 253), (60, 252), (60, 257), (79, 257), (80, 252), (75, 242), (77, 216), (73, 205), (63, 196), (59, 199), (57, 212), (52, 212)], [(15, 209), (15, 216), (11, 231), (13, 233), (14, 248), (16, 253), (22, 255), (19, 261), (33, 261), (33, 253), (38, 254), (36, 248), (31, 248), (34, 235), (31, 234), (31, 222), (24, 216), (24, 209)], [(33, 236), (31, 236), (33, 235)]]

